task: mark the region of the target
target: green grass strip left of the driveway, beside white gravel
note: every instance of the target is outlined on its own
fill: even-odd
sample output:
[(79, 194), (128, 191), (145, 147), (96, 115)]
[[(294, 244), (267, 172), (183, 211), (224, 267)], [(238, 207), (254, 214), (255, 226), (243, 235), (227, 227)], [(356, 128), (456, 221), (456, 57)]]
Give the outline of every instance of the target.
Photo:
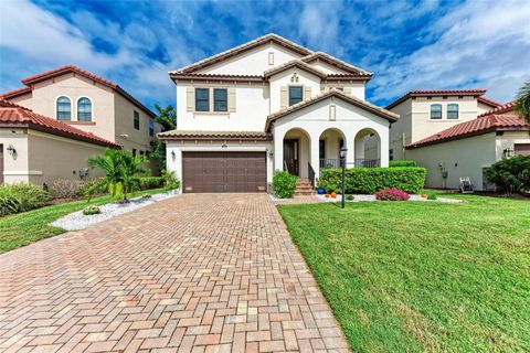
[[(138, 191), (132, 193), (130, 197), (142, 194), (156, 194), (162, 191), (162, 189)], [(76, 201), (1, 217), (0, 254), (65, 233), (65, 229), (52, 227), (49, 224), (68, 213), (83, 210), (88, 205), (97, 206), (109, 202), (112, 202), (109, 196), (100, 196), (94, 197), (89, 203), (86, 201)]]

